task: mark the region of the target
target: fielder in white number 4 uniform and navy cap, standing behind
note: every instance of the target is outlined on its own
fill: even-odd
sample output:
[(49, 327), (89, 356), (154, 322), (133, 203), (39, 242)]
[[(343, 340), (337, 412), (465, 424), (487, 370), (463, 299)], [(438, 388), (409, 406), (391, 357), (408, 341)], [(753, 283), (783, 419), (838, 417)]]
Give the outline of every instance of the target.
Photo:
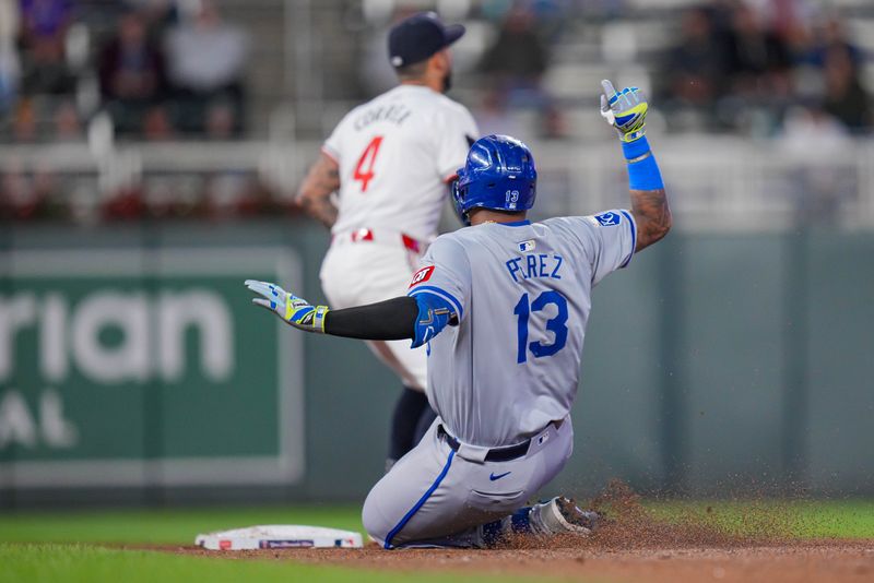
[[(324, 142), (298, 201), (331, 229), (321, 285), (331, 307), (389, 299), (406, 289), (437, 234), (448, 182), (479, 135), (449, 90), (449, 46), (464, 34), (434, 12), (413, 15), (389, 34), (389, 59), (400, 85), (350, 111)], [(331, 200), (338, 192), (336, 203)], [(434, 419), (425, 396), (424, 348), (369, 340), (400, 377), (387, 468), (418, 442)]]

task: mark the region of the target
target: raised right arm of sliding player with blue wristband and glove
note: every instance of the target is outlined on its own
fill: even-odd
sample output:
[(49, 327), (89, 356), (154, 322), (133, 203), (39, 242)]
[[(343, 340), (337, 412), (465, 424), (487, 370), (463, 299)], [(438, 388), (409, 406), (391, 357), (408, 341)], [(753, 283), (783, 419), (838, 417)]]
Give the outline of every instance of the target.
[(635, 251), (640, 251), (668, 235), (672, 224), (661, 172), (645, 135), (649, 106), (637, 87), (616, 92), (606, 80), (601, 86), (601, 115), (616, 128), (628, 164), (631, 211), (637, 223)]

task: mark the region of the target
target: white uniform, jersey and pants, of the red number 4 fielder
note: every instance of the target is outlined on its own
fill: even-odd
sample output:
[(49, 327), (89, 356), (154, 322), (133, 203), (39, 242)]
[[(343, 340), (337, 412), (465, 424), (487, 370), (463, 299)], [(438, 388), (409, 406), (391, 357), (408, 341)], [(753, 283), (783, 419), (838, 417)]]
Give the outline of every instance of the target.
[[(399, 85), (350, 111), (322, 152), (340, 166), (338, 218), (321, 266), (331, 308), (403, 295), (437, 234), (449, 189), (479, 138), (464, 106), (428, 87)], [(427, 385), (424, 348), (368, 342), (404, 385)]]

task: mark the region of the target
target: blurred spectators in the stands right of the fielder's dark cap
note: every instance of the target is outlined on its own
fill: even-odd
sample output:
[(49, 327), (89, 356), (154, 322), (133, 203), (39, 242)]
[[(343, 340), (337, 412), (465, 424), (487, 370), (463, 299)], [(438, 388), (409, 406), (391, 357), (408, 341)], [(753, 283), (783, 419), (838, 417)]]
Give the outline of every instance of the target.
[[(579, 104), (553, 95), (544, 80), (551, 68), (570, 61), (567, 53), (580, 40), (580, 27), (568, 23), (576, 15), (604, 32), (611, 23), (627, 20), (624, 3), (485, 2), (494, 8), (484, 15), (496, 34), (477, 66), (484, 79), (484, 124), (512, 127), (515, 117), (507, 112), (533, 105), (538, 136), (566, 138), (565, 114)], [(581, 5), (582, 14), (577, 12)], [(635, 52), (639, 39), (607, 38), (604, 33), (599, 57), (609, 60), (622, 53), (619, 60), (647, 67), (648, 85), (669, 131), (783, 136), (794, 134), (799, 124), (814, 124), (830, 133), (861, 134), (874, 123), (864, 79), (870, 56), (854, 44), (840, 14), (824, 2), (712, 0), (689, 5), (674, 22), (636, 22), (630, 35), (662, 28), (663, 46), (651, 55)], [(582, 36), (589, 32), (582, 31)], [(584, 66), (569, 64), (587, 73)], [(589, 64), (597, 69), (600, 63)]]

